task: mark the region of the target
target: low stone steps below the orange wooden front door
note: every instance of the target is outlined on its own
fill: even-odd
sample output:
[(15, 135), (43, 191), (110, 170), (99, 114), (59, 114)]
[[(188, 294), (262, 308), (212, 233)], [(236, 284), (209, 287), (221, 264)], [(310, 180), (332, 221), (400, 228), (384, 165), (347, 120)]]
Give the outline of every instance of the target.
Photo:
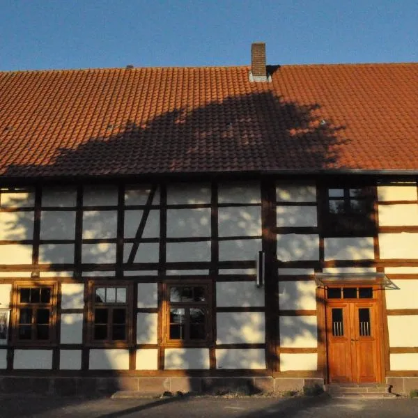
[(325, 391), (332, 398), (394, 398), (385, 383), (332, 383)]

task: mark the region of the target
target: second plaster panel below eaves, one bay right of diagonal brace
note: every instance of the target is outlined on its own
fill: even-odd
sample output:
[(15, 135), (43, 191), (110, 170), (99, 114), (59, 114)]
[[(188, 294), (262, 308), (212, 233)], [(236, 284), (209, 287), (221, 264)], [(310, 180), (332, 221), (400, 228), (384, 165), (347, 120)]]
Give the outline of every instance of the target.
[(167, 238), (210, 237), (210, 208), (167, 209)]

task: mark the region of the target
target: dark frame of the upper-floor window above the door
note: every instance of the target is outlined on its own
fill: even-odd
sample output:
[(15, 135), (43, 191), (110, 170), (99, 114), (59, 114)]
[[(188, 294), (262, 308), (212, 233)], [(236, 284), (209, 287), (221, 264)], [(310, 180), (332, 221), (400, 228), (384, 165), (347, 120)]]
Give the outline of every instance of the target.
[[(340, 189), (343, 196), (330, 196), (330, 189)], [(364, 196), (350, 196), (350, 190), (363, 189)], [(324, 237), (373, 236), (377, 231), (376, 222), (376, 187), (373, 185), (327, 185), (321, 192), (320, 217)], [(330, 201), (343, 201), (343, 213), (331, 212)], [(369, 203), (369, 212), (355, 212), (352, 201)]]

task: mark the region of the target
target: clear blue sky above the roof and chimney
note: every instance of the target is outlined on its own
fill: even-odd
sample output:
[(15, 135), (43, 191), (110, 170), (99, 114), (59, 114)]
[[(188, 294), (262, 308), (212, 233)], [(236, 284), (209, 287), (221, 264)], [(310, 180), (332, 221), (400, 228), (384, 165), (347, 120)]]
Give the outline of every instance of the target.
[(417, 0), (0, 0), (0, 70), (418, 61)]

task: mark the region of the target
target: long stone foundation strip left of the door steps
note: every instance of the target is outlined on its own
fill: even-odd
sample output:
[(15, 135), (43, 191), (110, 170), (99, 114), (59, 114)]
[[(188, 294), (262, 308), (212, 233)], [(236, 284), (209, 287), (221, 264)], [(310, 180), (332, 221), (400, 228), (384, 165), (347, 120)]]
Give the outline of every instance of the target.
[[(417, 378), (418, 382), (418, 378)], [(0, 393), (35, 393), (59, 396), (100, 396), (119, 391), (139, 392), (149, 396), (160, 396), (164, 392), (176, 394), (196, 393), (242, 395), (301, 391), (303, 387), (320, 385), (320, 378), (175, 378), (175, 377), (132, 377), (132, 378), (70, 378), (70, 377), (22, 377), (3, 376), (0, 378)]]

